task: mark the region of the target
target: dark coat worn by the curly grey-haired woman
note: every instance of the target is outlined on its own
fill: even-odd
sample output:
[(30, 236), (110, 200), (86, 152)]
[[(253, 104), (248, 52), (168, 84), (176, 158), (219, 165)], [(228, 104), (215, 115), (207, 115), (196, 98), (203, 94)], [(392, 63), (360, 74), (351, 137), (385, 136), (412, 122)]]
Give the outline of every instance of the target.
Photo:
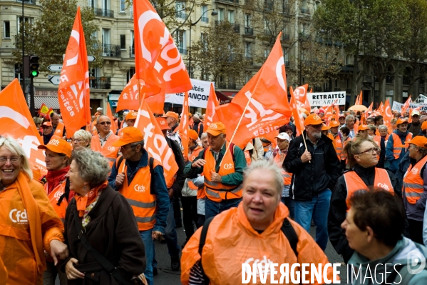
[[(91, 221), (86, 226), (85, 235), (91, 246), (117, 267), (126, 279), (143, 273), (146, 264), (144, 244), (132, 208), (125, 197), (107, 186), (89, 216)], [(68, 260), (75, 258), (78, 260), (76, 269), (86, 276), (85, 279), (68, 280), (68, 284), (119, 284), (108, 271), (89, 269), (89, 264), (97, 264), (97, 261), (78, 239), (74, 219), (78, 219), (81, 224), (76, 199), (71, 200), (66, 211), (64, 238), (69, 256), (63, 262), (63, 270)]]

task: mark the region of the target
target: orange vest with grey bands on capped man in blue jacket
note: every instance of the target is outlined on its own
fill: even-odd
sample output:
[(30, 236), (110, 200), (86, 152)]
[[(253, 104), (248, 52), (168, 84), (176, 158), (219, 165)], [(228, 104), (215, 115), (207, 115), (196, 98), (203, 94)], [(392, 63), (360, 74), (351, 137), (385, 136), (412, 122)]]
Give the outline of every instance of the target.
[[(148, 161), (150, 161), (150, 155), (148, 156)], [(155, 195), (151, 194), (150, 191), (150, 165), (138, 169), (135, 177), (133, 177), (132, 182), (128, 186), (128, 166), (125, 165), (125, 162), (126, 160), (123, 159), (122, 163), (118, 166), (118, 169), (120, 169), (120, 166), (123, 165), (123, 170), (120, 172), (125, 173), (125, 180), (123, 181), (123, 185), (120, 187), (119, 192), (125, 196), (126, 200), (132, 207), (133, 214), (135, 214), (135, 219), (138, 224), (138, 229), (140, 231), (153, 229), (155, 225), (156, 202)], [(160, 162), (154, 160), (153, 169), (158, 165), (160, 165)]]

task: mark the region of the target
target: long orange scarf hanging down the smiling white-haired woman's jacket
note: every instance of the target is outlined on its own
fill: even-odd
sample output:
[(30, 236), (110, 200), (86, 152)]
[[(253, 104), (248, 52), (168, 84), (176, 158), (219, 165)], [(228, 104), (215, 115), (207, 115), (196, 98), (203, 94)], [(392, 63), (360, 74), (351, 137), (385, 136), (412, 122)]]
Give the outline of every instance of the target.
[(43, 274), (46, 269), (46, 259), (43, 253), (43, 236), (41, 234), (41, 217), (38, 212), (36, 200), (29, 186), (28, 177), (21, 171), (16, 178), (19, 196), (21, 196), (24, 207), (27, 211), (27, 219), (29, 220), (31, 245), (36, 258), (38, 274)]

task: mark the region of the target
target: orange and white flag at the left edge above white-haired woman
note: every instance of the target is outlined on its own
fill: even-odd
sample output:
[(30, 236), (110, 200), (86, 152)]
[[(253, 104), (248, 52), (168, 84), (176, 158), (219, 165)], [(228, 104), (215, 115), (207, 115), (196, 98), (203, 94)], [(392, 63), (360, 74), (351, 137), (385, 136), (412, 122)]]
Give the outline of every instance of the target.
[(31, 168), (38, 169), (41, 175), (47, 174), (44, 152), (37, 149), (43, 141), (31, 117), (18, 79), (14, 79), (0, 91), (0, 134), (16, 139), (24, 149)]

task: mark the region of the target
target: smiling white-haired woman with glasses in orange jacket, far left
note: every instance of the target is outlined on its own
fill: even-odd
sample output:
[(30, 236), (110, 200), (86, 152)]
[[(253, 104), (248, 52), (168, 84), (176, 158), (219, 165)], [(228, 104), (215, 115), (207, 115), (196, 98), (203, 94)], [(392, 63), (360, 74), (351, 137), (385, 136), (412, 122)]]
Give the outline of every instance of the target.
[(42, 284), (43, 249), (55, 264), (68, 256), (63, 224), (14, 139), (0, 138), (0, 169), (0, 259), (9, 274), (7, 284)]

